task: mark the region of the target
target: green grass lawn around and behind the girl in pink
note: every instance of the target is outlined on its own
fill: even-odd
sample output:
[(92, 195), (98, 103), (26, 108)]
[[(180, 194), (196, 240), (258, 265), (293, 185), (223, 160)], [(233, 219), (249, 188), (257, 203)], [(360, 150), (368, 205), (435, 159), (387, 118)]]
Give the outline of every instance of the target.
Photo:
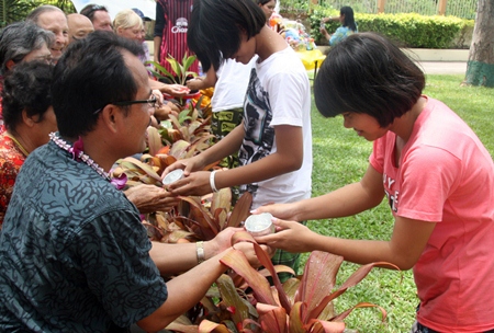
[[(494, 156), (494, 89), (460, 87), (463, 76), (428, 76), (425, 94), (445, 102), (476, 133)], [(324, 118), (313, 104), (313, 196), (360, 180), (368, 166), (372, 143), (343, 127), (343, 117)], [(383, 202), (377, 208), (355, 217), (308, 221), (322, 234), (348, 239), (391, 237), (393, 218)], [(305, 262), (307, 254), (303, 254)], [(303, 267), (303, 266), (302, 266)], [(338, 275), (340, 285), (358, 265), (344, 263)], [(300, 272), (302, 273), (302, 272)], [(341, 295), (335, 306), (344, 311), (360, 301), (372, 302), (388, 311), (384, 323), (377, 309), (357, 309), (346, 320), (359, 332), (409, 332), (418, 303), (412, 271), (373, 269), (358, 286)]]

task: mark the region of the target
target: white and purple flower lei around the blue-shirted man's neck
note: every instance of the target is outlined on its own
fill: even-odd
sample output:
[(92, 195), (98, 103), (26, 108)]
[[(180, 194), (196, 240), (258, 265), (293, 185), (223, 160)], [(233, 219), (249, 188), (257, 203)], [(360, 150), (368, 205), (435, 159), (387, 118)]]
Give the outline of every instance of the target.
[(55, 142), (58, 147), (61, 149), (70, 152), (72, 154), (72, 159), (75, 161), (82, 161), (86, 164), (88, 164), (92, 170), (98, 172), (99, 175), (101, 175), (103, 179), (109, 181), (113, 186), (116, 187), (116, 190), (122, 190), (125, 187), (125, 184), (127, 183), (127, 175), (125, 173), (122, 173), (119, 177), (110, 177), (110, 173), (103, 170), (100, 165), (98, 165), (97, 162), (94, 162), (89, 156), (87, 156), (83, 152), (83, 142), (82, 138), (79, 137), (79, 140), (77, 140), (74, 146), (70, 146), (67, 143), (64, 139), (58, 137), (55, 133), (49, 134), (49, 139)]

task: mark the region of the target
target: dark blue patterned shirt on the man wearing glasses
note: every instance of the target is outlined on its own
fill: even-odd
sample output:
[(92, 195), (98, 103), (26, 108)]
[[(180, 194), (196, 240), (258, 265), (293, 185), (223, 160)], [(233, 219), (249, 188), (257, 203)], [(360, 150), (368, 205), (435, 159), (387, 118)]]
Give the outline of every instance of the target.
[(167, 288), (123, 193), (54, 142), (16, 179), (0, 236), (0, 331), (108, 332), (153, 313)]

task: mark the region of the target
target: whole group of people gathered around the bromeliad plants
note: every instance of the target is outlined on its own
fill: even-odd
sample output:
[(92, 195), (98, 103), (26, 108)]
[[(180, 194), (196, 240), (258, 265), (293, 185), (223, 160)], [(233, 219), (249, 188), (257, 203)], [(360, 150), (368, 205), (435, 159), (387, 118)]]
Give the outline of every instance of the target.
[[(149, 77), (148, 18), (138, 9), (112, 20), (99, 4), (69, 15), (45, 4), (0, 32), (0, 331), (166, 328), (227, 269), (220, 259), (228, 251), (260, 263), (250, 243), (232, 244), (242, 228), (166, 244), (149, 241), (141, 214), (236, 186), (252, 194), (252, 214), (274, 216), (276, 232), (256, 238), (274, 264), (296, 274), (300, 253), (315, 250), (389, 262), (414, 272), (413, 333), (494, 332), (490, 152), (424, 94), (419, 68), (385, 37), (357, 33), (344, 7), (314, 100), (373, 149), (359, 182), (311, 197), (311, 87), (295, 51), (267, 24), (274, 4), (158, 0), (154, 60), (195, 54), (206, 76), (188, 87)], [(131, 190), (111, 179), (115, 161), (145, 151), (148, 126), (180, 111), (162, 93), (206, 87), (215, 87), (217, 142), (162, 174), (183, 169), (183, 179)], [(235, 168), (202, 171), (227, 156), (238, 157)], [(394, 218), (390, 240), (325, 237), (305, 226), (383, 198)]]

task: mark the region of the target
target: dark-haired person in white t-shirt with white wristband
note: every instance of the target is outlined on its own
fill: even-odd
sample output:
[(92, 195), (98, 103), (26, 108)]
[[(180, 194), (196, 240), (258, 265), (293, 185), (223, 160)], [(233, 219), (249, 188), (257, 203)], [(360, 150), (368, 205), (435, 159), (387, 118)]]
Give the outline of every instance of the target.
[[(308, 198), (311, 90), (294, 50), (266, 25), (266, 15), (251, 0), (195, 1), (188, 44), (205, 69), (217, 70), (228, 58), (249, 64), (257, 55), (258, 60), (250, 74), (243, 124), (206, 151), (170, 165), (165, 173), (184, 169), (186, 174), (169, 186), (171, 193), (203, 195), (242, 185), (242, 191), (252, 194), (252, 208)], [(199, 171), (237, 151), (240, 166), (217, 173)], [(299, 255), (278, 252), (273, 263), (290, 265), (296, 273)]]

